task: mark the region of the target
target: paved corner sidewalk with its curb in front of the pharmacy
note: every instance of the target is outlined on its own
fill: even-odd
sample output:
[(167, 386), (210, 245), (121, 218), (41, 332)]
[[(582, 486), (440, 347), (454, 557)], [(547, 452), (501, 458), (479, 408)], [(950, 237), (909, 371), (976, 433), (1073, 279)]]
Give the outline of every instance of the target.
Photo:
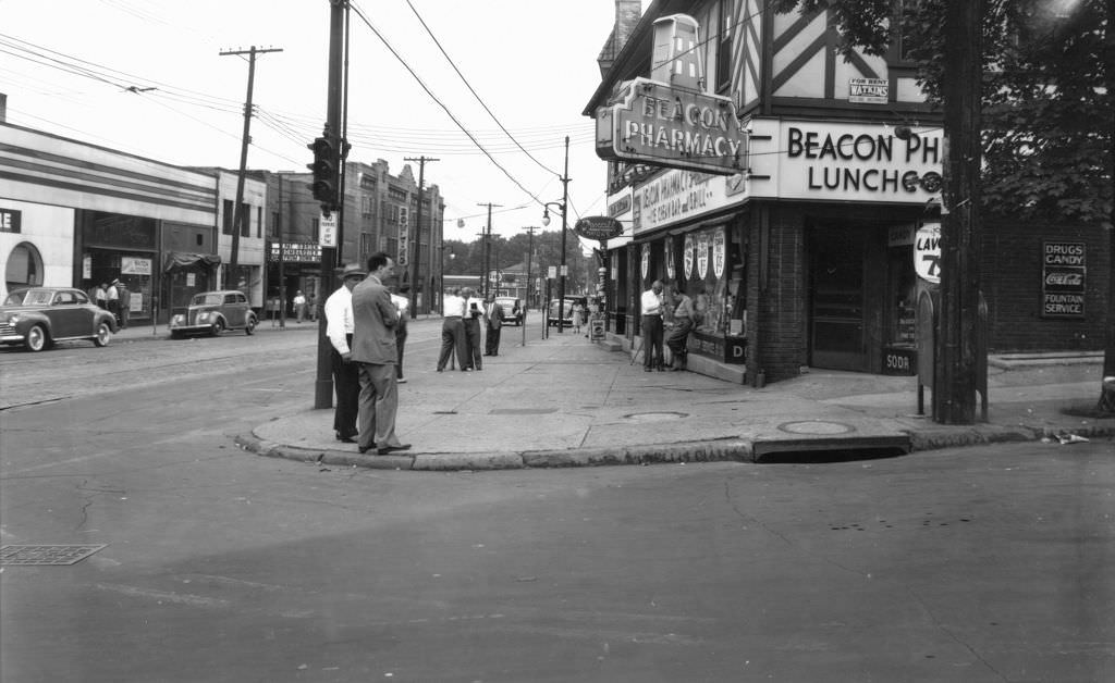
[[(262, 331), (262, 330), (261, 330)], [(894, 455), (997, 441), (1115, 436), (1088, 414), (1102, 357), (991, 359), (989, 421), (940, 426), (918, 416), (917, 379), (811, 371), (753, 389), (694, 372), (643, 372), (626, 352), (566, 331), (518, 345), (505, 335), (481, 372), (407, 368), (399, 439), (360, 455), (333, 438), (332, 410), (282, 416), (236, 438), (264, 456), (413, 470), (515, 469), (793, 459), (808, 451)], [(929, 410), (929, 392), (925, 410)]]

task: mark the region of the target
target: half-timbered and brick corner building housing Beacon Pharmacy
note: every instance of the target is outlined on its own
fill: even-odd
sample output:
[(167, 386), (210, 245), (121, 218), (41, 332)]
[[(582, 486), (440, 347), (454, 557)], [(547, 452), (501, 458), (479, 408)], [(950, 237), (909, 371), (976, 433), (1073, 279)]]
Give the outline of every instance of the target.
[[(609, 159), (608, 214), (626, 228), (609, 241), (610, 332), (641, 334), (639, 294), (665, 280), (701, 311), (690, 351), (725, 377), (913, 374), (943, 135), (901, 37), (845, 59), (825, 11), (657, 0), (630, 26), (629, 4), (617, 2), (584, 110)], [(983, 235), (991, 350), (1102, 348), (1104, 231)]]

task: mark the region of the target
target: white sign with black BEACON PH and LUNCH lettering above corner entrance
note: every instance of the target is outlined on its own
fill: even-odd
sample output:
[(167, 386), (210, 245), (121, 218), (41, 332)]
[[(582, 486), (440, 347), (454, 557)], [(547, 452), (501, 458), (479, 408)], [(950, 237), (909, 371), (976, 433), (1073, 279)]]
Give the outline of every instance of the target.
[(939, 127), (756, 118), (750, 197), (820, 202), (924, 203), (940, 194)]

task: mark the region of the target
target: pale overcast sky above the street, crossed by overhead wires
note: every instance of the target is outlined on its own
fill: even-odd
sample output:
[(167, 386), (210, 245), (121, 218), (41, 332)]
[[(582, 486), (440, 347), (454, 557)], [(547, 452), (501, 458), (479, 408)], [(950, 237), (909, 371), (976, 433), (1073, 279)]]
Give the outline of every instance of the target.
[[(562, 198), (565, 136), (570, 227), (605, 212), (607, 165), (581, 113), (600, 84), (613, 0), (352, 8), (349, 160), (384, 159), (398, 175), (407, 157), (438, 159), (426, 163), (425, 179), (445, 199), (446, 240), (476, 240), (487, 203), (498, 205), (495, 234), (541, 227), (541, 203)], [(248, 166), (301, 172), (326, 120), (329, 16), (329, 0), (0, 0), (8, 123), (236, 169), (249, 62), (221, 52), (275, 48), (256, 57)], [(560, 226), (553, 215), (545, 230)]]

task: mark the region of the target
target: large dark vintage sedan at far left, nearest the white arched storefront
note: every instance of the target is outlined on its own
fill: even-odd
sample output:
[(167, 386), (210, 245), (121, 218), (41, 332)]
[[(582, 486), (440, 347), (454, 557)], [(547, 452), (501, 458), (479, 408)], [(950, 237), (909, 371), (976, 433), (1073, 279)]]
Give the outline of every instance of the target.
[(14, 290), (0, 306), (0, 343), (42, 351), (55, 342), (88, 339), (108, 345), (116, 319), (89, 295), (71, 287)]

